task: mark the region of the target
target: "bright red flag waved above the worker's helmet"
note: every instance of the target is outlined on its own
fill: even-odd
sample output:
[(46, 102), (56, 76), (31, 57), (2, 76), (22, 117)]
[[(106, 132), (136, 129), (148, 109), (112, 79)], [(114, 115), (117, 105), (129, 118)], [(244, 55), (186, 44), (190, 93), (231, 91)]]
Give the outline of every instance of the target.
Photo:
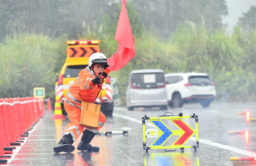
[(115, 40), (118, 42), (118, 51), (107, 59), (110, 65), (108, 69), (112, 71), (117, 71), (124, 67), (135, 56), (136, 52), (125, 0), (122, 0), (122, 9), (116, 27)]

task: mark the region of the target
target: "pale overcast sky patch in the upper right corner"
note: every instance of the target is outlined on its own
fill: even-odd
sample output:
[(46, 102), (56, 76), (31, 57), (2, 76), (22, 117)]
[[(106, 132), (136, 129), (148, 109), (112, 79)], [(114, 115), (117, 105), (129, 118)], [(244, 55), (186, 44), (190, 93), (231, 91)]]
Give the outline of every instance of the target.
[(223, 23), (227, 23), (227, 32), (232, 33), (233, 27), (237, 24), (238, 18), (243, 13), (247, 13), (250, 6), (256, 6), (256, 0), (226, 0), (229, 16), (223, 18)]

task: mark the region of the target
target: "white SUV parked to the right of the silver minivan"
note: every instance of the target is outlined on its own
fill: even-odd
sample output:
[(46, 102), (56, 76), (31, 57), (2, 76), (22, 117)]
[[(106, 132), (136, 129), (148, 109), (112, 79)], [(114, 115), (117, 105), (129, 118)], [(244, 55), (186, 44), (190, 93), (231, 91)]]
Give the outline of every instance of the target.
[(208, 107), (216, 96), (214, 83), (206, 73), (169, 73), (165, 80), (170, 107), (182, 107), (189, 102)]

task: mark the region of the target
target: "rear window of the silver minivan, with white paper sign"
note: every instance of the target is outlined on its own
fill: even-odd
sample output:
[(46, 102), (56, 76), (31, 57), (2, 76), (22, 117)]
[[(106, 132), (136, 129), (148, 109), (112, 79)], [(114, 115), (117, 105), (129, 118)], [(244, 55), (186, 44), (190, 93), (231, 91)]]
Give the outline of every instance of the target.
[(136, 88), (157, 88), (164, 86), (164, 73), (134, 73), (131, 77), (131, 83)]

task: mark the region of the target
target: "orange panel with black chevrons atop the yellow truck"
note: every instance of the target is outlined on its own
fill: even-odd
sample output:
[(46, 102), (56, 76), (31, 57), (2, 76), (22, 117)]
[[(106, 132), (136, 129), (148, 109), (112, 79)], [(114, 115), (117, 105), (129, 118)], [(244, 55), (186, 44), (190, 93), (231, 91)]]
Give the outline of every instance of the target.
[(68, 47), (68, 57), (89, 57), (91, 54), (99, 52), (98, 48), (94, 47)]

